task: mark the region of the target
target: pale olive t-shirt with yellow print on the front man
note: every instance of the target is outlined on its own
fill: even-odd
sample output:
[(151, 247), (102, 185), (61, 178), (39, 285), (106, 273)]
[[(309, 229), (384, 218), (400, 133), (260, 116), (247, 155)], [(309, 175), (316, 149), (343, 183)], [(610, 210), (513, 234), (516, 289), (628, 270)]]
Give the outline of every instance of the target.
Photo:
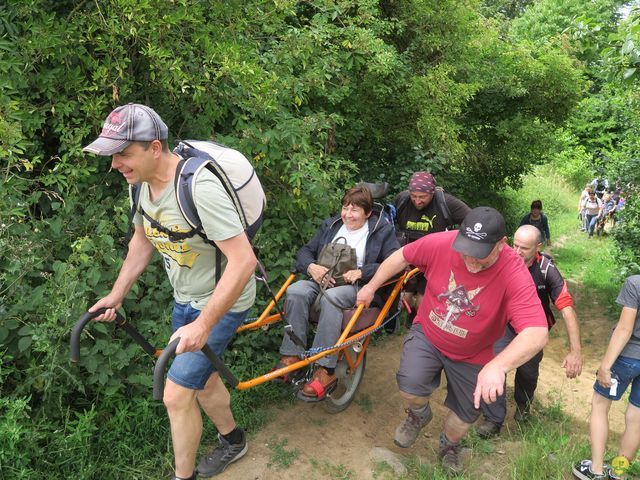
[[(209, 240), (227, 240), (244, 232), (231, 199), (220, 181), (208, 170), (202, 170), (198, 174), (193, 200)], [(191, 230), (178, 208), (173, 182), (169, 182), (155, 202), (149, 200), (149, 185), (142, 183), (140, 206), (163, 227), (176, 232)], [(144, 226), (145, 235), (162, 255), (175, 300), (178, 303), (190, 303), (198, 310), (204, 309), (215, 288), (216, 249), (206, 244), (197, 234), (186, 240), (172, 242), (166, 234), (152, 228), (139, 212), (134, 215), (133, 223)], [(226, 265), (227, 259), (223, 255), (222, 273)], [(255, 300), (255, 293), (256, 283), (252, 275), (231, 311), (250, 308)]]

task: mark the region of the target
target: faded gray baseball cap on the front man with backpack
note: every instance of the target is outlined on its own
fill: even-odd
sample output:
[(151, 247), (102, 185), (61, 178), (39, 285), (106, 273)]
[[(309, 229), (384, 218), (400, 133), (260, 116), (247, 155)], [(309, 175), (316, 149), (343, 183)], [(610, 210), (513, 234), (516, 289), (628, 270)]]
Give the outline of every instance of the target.
[(131, 142), (166, 140), (169, 129), (152, 108), (128, 103), (109, 114), (100, 136), (84, 147), (83, 152), (110, 156), (127, 148)]

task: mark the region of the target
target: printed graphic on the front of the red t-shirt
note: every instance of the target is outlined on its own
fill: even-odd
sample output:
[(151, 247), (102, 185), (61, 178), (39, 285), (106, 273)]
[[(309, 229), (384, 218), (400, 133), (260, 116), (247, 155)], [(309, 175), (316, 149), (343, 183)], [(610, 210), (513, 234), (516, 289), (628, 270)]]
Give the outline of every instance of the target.
[(429, 312), (429, 320), (431, 320), (438, 328), (453, 335), (466, 338), (469, 331), (455, 325), (455, 322), (464, 314), (467, 317), (475, 316), (480, 309), (479, 305), (473, 304), (473, 299), (482, 287), (467, 291), (464, 285), (456, 283), (453, 271), (449, 276), (449, 285), (447, 291), (441, 293), (436, 298), (440, 304)]

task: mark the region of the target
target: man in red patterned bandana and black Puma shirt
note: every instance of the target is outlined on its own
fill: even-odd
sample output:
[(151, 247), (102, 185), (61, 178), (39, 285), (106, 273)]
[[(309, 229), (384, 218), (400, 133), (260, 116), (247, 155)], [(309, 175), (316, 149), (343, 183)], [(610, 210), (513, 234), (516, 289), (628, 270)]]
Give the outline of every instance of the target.
[[(451, 230), (460, 225), (471, 210), (462, 200), (439, 188), (429, 172), (415, 172), (409, 188), (395, 200), (398, 238), (402, 246), (435, 232)], [(405, 301), (418, 310), (426, 280), (422, 274), (414, 276), (405, 288)]]

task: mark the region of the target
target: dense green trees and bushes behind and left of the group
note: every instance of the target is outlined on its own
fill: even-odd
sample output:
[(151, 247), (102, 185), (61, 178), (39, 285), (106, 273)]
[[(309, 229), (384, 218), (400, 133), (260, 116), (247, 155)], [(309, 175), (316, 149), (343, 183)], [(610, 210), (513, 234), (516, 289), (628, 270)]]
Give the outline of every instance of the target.
[[(151, 363), (138, 347), (94, 326), (80, 364), (68, 362), (70, 328), (110, 288), (126, 242), (124, 182), (108, 159), (81, 152), (117, 105), (151, 105), (172, 142), (212, 138), (253, 160), (268, 195), (257, 245), (276, 284), (359, 179), (397, 191), (410, 172), (430, 169), (473, 203), (552, 159), (584, 181), (598, 149), (611, 172), (636, 181), (637, 86), (624, 83), (637, 78), (636, 17), (618, 31), (620, 2), (585, 10), (593, 2), (565, 0), (564, 12), (583, 12), (581, 28), (567, 30), (575, 16), (556, 9), (561, 24), (532, 34), (554, 2), (532, 3), (0, 5), (0, 476), (170, 470), (157, 452), (162, 406), (147, 400)], [(605, 45), (599, 31), (618, 36)], [(605, 47), (600, 74), (594, 52)], [(628, 225), (640, 225), (633, 218)], [(168, 337), (169, 292), (153, 264), (124, 305), (157, 345)], [(244, 378), (264, 371), (278, 335), (239, 339), (229, 363)], [(260, 395), (276, 394), (234, 396), (241, 421), (255, 421), (246, 412)]]

